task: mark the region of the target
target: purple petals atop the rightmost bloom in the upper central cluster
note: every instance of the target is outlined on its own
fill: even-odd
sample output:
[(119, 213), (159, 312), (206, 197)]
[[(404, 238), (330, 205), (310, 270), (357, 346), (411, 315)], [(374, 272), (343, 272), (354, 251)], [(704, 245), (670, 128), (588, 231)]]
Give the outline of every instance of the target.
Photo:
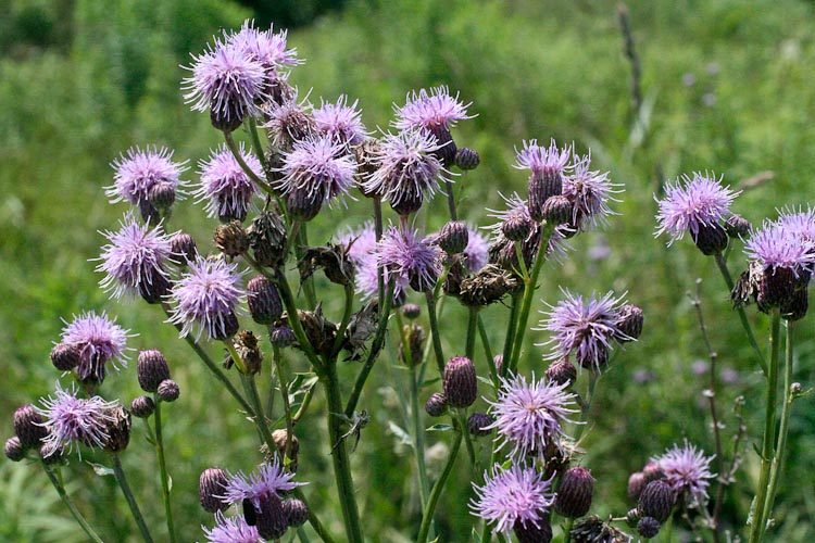
[(437, 128), (449, 129), (459, 121), (473, 118), (467, 115), (467, 108), (473, 102), (462, 103), (459, 94), (450, 96), (447, 87), (434, 87), (430, 92), (425, 89), (421, 89), (418, 93), (412, 91), (405, 102), (401, 108), (393, 108), (397, 114), (393, 127), (400, 130), (424, 128), (435, 134)]

